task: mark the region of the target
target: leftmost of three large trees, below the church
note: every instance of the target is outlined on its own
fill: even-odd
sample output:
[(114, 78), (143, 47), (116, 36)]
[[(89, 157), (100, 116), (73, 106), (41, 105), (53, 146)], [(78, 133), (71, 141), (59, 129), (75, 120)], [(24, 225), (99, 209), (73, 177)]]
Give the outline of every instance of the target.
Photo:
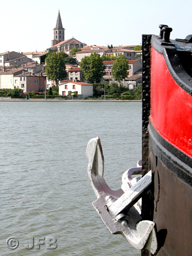
[(65, 70), (65, 53), (60, 51), (50, 52), (46, 57), (46, 75), (49, 80), (58, 81), (66, 78), (67, 73)]

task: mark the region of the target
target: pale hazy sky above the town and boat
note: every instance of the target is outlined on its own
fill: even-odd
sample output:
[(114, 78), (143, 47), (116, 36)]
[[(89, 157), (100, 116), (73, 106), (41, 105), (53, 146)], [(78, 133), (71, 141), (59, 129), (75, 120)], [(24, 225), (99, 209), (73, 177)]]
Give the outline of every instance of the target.
[(192, 34), (191, 0), (0, 0), (0, 53), (50, 47), (58, 9), (65, 39), (87, 45), (140, 44), (162, 23), (172, 39)]

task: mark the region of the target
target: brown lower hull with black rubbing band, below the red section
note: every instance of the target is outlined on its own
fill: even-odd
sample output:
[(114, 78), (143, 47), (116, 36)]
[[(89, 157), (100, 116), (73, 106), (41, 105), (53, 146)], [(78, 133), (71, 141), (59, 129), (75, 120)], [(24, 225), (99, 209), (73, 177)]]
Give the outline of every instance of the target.
[[(148, 131), (153, 201), (148, 210), (145, 207), (145, 215), (156, 223), (156, 255), (188, 256), (192, 254), (191, 158), (164, 140), (151, 123)], [(152, 254), (145, 250), (142, 255)]]

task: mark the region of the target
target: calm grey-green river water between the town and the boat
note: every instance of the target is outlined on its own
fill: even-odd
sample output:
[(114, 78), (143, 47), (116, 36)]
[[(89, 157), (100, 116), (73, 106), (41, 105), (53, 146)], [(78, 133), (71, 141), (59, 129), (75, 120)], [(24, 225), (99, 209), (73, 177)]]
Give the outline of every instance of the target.
[[(85, 150), (100, 137), (105, 180), (120, 188), (141, 159), (141, 102), (0, 102), (0, 120), (1, 256), (140, 255), (94, 210)], [(56, 237), (57, 248), (27, 250), (33, 236)], [(16, 249), (8, 237), (19, 240)]]

